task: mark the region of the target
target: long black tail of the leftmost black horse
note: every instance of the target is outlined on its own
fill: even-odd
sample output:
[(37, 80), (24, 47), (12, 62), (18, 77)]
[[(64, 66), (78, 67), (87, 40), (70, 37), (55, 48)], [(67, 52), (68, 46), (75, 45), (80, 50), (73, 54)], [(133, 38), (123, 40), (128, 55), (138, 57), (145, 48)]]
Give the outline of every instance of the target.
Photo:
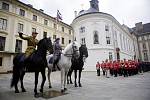
[[(10, 87), (12, 88), (13, 86), (15, 86), (15, 84), (18, 83), (19, 78), (20, 78), (20, 68), (19, 68), (19, 58), (21, 55), (17, 55), (15, 56), (15, 58), (13, 59), (13, 74), (12, 74), (12, 79), (11, 79), (11, 84)], [(21, 67), (21, 66), (20, 66)]]

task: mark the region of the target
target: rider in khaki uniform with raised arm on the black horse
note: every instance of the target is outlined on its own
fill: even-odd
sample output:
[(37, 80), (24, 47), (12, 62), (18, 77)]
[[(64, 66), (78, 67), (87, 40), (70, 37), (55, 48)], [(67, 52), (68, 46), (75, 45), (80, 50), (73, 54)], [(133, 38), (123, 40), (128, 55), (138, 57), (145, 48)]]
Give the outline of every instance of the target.
[(27, 59), (35, 50), (38, 40), (36, 39), (37, 32), (32, 32), (32, 36), (23, 36), (23, 33), (18, 32), (19, 37), (23, 40), (27, 40), (27, 49), (25, 51), (25, 59)]

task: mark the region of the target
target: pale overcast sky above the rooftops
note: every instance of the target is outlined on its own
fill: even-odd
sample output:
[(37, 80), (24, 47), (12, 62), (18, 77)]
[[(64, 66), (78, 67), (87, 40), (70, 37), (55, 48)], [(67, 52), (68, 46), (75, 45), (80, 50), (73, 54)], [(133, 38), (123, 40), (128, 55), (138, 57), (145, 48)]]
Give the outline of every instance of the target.
[[(90, 7), (90, 0), (20, 0), (32, 4), (36, 9), (43, 9), (52, 17), (56, 17), (57, 9), (63, 17), (63, 22), (71, 24), (74, 11), (79, 12)], [(99, 0), (100, 12), (114, 16), (120, 24), (134, 27), (135, 23), (150, 22), (150, 0)]]

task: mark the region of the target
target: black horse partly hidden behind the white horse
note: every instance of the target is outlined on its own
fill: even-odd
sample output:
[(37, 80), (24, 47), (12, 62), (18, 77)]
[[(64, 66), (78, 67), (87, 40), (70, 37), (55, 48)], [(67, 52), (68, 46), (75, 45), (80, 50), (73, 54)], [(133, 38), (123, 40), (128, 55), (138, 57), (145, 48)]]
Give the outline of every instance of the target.
[(72, 72), (74, 70), (74, 77), (75, 77), (75, 87), (77, 87), (77, 82), (76, 82), (76, 79), (77, 79), (77, 70), (79, 70), (79, 76), (78, 76), (78, 83), (79, 83), (79, 87), (82, 87), (81, 85), (81, 82), (80, 82), (80, 79), (81, 79), (81, 72), (83, 70), (83, 65), (84, 65), (84, 62), (85, 62), (85, 59), (88, 57), (88, 50), (87, 50), (87, 47), (85, 44), (82, 44), (81, 47), (79, 48), (79, 52), (80, 52), (80, 56), (78, 59), (72, 59), (72, 65), (71, 65), (71, 68), (68, 72), (68, 75), (67, 75), (67, 84), (69, 84), (69, 81), (70, 81), (70, 84), (73, 84), (72, 83), (72, 79), (71, 79), (71, 75), (72, 75)]

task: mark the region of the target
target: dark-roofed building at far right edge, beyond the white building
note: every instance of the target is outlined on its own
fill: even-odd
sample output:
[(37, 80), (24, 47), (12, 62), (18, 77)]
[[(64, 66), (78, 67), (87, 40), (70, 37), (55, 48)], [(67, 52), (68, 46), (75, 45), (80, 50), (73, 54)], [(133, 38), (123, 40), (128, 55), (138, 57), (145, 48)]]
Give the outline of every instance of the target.
[(139, 59), (144, 62), (150, 62), (150, 23), (136, 23), (132, 28), (137, 36)]

